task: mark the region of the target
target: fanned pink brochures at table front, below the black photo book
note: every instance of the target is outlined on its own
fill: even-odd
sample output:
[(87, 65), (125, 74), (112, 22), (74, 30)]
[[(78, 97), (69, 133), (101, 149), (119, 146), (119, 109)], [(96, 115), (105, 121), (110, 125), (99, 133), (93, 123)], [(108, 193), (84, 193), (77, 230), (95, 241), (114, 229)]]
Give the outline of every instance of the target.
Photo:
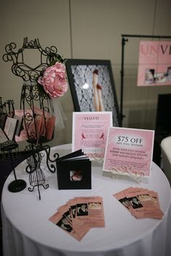
[(58, 208), (49, 220), (80, 241), (90, 228), (104, 227), (102, 197), (75, 197)]

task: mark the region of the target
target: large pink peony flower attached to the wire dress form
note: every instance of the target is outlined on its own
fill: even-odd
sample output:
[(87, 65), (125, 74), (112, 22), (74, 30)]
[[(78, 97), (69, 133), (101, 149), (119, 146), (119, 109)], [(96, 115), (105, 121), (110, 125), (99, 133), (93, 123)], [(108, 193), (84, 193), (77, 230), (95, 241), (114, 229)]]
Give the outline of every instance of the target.
[(58, 98), (67, 92), (67, 79), (65, 75), (65, 66), (56, 62), (55, 65), (48, 67), (43, 76), (38, 78), (38, 83), (40, 83), (44, 90), (51, 98)]

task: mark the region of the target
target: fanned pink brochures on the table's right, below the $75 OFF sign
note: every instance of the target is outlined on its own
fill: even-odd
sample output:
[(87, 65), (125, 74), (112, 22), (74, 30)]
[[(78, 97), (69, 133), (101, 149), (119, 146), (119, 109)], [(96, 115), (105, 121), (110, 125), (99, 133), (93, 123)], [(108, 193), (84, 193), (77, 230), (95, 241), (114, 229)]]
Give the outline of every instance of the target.
[(162, 219), (163, 212), (160, 209), (159, 197), (155, 191), (129, 187), (113, 194), (113, 196), (137, 219)]

